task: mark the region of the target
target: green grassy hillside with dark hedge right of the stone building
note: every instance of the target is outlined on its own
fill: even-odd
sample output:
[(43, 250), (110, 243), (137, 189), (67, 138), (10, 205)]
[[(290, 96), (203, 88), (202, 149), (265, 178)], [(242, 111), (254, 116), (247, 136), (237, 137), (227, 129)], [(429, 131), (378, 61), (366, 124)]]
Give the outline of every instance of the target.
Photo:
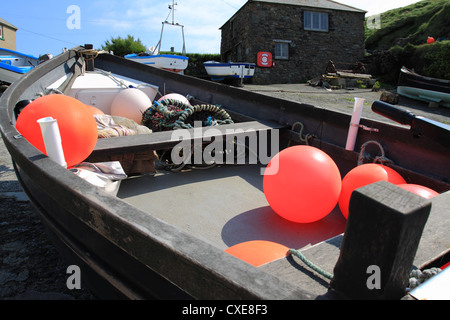
[[(449, 17), (449, 0), (422, 0), (382, 13), (379, 29), (369, 29), (366, 24), (369, 73), (393, 85), (402, 66), (450, 79)], [(427, 44), (429, 36), (437, 41)]]

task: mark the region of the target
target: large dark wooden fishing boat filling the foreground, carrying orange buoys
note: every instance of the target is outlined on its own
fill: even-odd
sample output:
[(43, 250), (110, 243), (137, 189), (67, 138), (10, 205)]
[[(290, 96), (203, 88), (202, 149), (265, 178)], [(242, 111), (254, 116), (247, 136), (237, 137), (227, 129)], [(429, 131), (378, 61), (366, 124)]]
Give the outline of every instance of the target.
[[(80, 267), (83, 283), (98, 297), (400, 299), (407, 295), (411, 268), (448, 261), (450, 140), (445, 126), (412, 114), (404, 117), (394, 109), (390, 117), (401, 118), (411, 128), (361, 119), (356, 151), (349, 151), (344, 148), (348, 115), (110, 54), (94, 57), (83, 47), (74, 48), (12, 84), (0, 100), (0, 128), (17, 177), (50, 236), (67, 264)], [(77, 72), (84, 65), (86, 70)], [(69, 93), (77, 77), (92, 72), (149, 84), (161, 96), (188, 96), (192, 105), (220, 105), (233, 121), (213, 131), (204, 126), (98, 139), (87, 161), (119, 159), (125, 166), (130, 155), (147, 154), (143, 162), (152, 164), (155, 151), (161, 155), (180, 143), (208, 147), (212, 137), (243, 134), (257, 137), (260, 146), (280, 149), (308, 143), (326, 152), (344, 176), (364, 155), (359, 152), (362, 146), (378, 154), (366, 145), (377, 141), (383, 159), (389, 158), (389, 166), (408, 183), (440, 195), (428, 200), (380, 181), (353, 192), (348, 220), (336, 206), (319, 221), (294, 223), (268, 205), (261, 171), (267, 163), (262, 161), (218, 164), (207, 170), (142, 170), (147, 174), (134, 172), (121, 180), (116, 194), (106, 192), (56, 164), (15, 127), (19, 102), (36, 99), (46, 90)], [(377, 112), (385, 112), (383, 108), (392, 111), (381, 104)], [(256, 240), (295, 250), (260, 266), (227, 252)], [(376, 267), (381, 278), (376, 277)], [(369, 277), (379, 280), (375, 289), (368, 285)]]

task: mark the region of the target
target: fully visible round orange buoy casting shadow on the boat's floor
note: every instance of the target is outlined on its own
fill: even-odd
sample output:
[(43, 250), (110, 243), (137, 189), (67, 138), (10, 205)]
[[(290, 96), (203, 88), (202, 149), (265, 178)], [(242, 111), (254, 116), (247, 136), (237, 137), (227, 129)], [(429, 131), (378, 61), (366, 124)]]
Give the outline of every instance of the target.
[[(281, 217), (298, 223), (322, 219), (336, 206), (341, 174), (325, 152), (311, 146), (293, 146), (275, 155), (264, 174), (263, 189), (270, 207)], [(267, 170), (266, 169), (266, 170)]]

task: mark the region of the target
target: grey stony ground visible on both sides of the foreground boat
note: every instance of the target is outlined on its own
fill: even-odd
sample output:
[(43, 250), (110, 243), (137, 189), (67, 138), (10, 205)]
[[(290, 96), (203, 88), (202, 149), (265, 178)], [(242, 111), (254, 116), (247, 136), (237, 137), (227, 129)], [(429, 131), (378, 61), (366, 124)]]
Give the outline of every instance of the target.
[[(363, 117), (389, 122), (370, 110), (372, 102), (379, 99), (379, 92), (363, 89), (329, 92), (305, 84), (245, 85), (243, 89), (349, 114), (353, 110), (352, 99), (364, 98)], [(425, 103), (406, 98), (400, 98), (399, 105), (416, 115), (450, 123), (448, 108), (430, 109)], [(49, 241), (23, 193), (3, 140), (0, 143), (0, 259), (2, 300), (95, 300), (84, 288), (69, 290), (66, 287), (68, 266)]]

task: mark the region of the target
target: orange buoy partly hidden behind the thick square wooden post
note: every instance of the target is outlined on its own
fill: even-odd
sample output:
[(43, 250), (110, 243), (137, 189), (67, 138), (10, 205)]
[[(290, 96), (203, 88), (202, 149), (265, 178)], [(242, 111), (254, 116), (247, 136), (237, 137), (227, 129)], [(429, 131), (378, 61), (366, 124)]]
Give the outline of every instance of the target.
[(339, 208), (344, 217), (348, 217), (348, 205), (355, 189), (382, 180), (396, 185), (406, 183), (398, 172), (381, 164), (366, 163), (350, 170), (342, 179), (342, 190), (339, 196)]

